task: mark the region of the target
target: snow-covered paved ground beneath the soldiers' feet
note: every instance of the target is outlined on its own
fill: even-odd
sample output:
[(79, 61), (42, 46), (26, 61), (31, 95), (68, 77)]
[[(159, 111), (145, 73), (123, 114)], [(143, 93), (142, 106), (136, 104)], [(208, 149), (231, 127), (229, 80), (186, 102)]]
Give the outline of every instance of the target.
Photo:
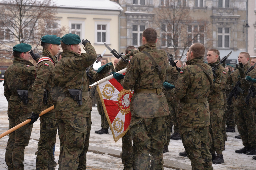
[[(8, 116), (7, 116), (7, 106), (8, 103), (3, 95), (4, 88), (3, 82), (0, 82), (0, 133), (8, 130)], [(114, 141), (112, 133), (109, 130), (109, 134), (99, 135), (94, 133), (95, 130), (100, 129), (100, 115), (97, 111), (97, 107), (93, 107), (92, 111), (92, 130), (90, 136), (90, 145), (122, 150), (121, 139), (117, 142)], [(40, 121), (34, 123), (31, 140), (28, 147), (25, 149), (25, 169), (35, 169), (35, 160), (37, 151), (37, 142), (40, 133)], [(238, 154), (235, 153), (236, 149), (243, 148), (242, 140), (236, 139), (234, 136), (238, 135), (237, 129), (235, 133), (228, 132), (228, 141), (226, 141), (226, 150), (223, 151), (225, 163), (219, 165), (213, 165), (214, 169), (229, 170), (229, 169), (256, 169), (256, 161), (252, 160), (253, 155)], [(5, 164), (5, 147), (7, 144), (8, 136), (0, 139), (0, 169), (7, 169)], [(57, 140), (56, 150), (55, 150), (55, 160), (58, 162), (59, 156), (59, 145), (60, 142)], [(181, 163), (191, 164), (188, 157), (179, 156), (178, 153), (184, 151), (184, 147), (181, 140), (171, 140), (169, 145), (169, 152), (164, 153), (164, 160), (173, 160)], [(113, 157), (110, 155), (96, 154), (93, 152), (87, 153), (87, 166), (89, 170), (102, 170), (102, 169), (113, 169), (120, 170), (123, 169), (123, 164), (121, 158)], [(58, 169), (58, 165), (56, 167)], [(171, 168), (166, 168), (166, 170), (171, 170)]]

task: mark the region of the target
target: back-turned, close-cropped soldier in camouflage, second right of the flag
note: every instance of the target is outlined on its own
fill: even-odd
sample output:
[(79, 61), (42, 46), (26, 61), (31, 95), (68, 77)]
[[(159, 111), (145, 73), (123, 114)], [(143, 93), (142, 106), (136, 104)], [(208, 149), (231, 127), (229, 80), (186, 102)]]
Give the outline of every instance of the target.
[[(210, 110), (208, 96), (213, 82), (211, 67), (204, 63), (205, 46), (194, 43), (188, 61), (178, 76), (175, 89), (169, 93), (180, 100), (177, 119), (182, 142), (191, 160), (192, 169), (213, 169), (211, 161)], [(165, 88), (174, 88), (164, 83)]]

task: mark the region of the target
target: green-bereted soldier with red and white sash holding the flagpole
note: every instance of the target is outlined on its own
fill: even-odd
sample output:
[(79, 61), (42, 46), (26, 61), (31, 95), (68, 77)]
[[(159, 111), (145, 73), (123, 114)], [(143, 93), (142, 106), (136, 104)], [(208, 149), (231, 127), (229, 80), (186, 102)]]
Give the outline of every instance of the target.
[[(52, 70), (58, 63), (55, 55), (60, 50), (60, 37), (56, 35), (45, 35), (41, 38), (43, 47), (42, 57), (36, 67), (36, 80), (33, 85), (34, 104), (31, 114), (33, 124), (39, 114), (53, 106), (50, 97)], [(51, 110), (40, 117), (40, 138), (36, 152), (36, 169), (55, 169), (57, 163), (54, 161), (53, 148), (56, 143), (58, 124), (55, 119), (55, 110)]]

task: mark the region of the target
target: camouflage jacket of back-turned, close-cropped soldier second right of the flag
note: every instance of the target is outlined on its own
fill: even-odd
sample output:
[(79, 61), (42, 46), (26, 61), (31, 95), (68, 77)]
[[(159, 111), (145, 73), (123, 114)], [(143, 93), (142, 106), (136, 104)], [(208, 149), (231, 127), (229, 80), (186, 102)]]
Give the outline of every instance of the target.
[[(202, 58), (193, 58), (186, 62), (187, 66), (178, 75), (175, 89), (170, 90), (174, 100), (204, 99), (210, 93), (210, 80), (206, 73), (197, 65), (200, 64), (211, 77), (211, 67)], [(208, 101), (202, 103), (185, 103), (180, 101), (177, 111), (179, 125), (188, 128), (202, 128), (210, 125), (210, 111)]]

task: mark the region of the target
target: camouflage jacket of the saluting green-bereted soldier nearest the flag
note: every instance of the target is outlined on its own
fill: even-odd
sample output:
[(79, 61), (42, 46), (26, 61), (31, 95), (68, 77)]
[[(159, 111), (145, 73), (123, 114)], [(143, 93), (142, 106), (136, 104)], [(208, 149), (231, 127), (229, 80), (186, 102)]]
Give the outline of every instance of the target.
[(55, 105), (56, 118), (90, 117), (90, 96), (82, 97), (82, 105), (78, 105), (69, 94), (69, 89), (79, 89), (88, 92), (86, 68), (94, 63), (97, 53), (90, 43), (86, 43), (86, 53), (63, 50), (61, 60), (52, 71), (51, 96)]

